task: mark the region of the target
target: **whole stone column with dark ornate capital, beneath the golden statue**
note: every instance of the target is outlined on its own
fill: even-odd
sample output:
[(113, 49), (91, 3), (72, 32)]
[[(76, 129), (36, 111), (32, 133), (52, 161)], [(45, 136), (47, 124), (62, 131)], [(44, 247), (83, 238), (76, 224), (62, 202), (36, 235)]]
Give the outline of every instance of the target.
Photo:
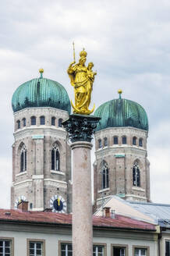
[(73, 142), (73, 256), (93, 254), (90, 141), (99, 119), (71, 115), (62, 123)]

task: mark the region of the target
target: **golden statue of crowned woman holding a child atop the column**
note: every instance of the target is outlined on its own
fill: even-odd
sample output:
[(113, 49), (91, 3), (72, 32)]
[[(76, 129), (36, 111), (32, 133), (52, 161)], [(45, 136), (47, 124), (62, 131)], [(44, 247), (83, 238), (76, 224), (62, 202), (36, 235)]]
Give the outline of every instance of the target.
[[(75, 105), (71, 101), (73, 106), (73, 112), (81, 115), (90, 115), (94, 112), (94, 108), (89, 109), (91, 91), (94, 84), (94, 76), (97, 74), (93, 72), (93, 62), (90, 62), (88, 66), (85, 66), (87, 60), (87, 52), (80, 52), (80, 60), (77, 64), (74, 61), (69, 65), (67, 73), (69, 74), (70, 83), (74, 87)], [(75, 64), (75, 65), (74, 65)]]

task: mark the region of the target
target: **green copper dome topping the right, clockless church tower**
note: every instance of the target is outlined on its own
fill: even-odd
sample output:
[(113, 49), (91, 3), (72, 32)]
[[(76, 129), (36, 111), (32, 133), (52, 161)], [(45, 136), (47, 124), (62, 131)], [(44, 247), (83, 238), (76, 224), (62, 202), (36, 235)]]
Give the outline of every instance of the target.
[(148, 130), (147, 113), (144, 108), (135, 101), (122, 98), (122, 90), (118, 92), (118, 99), (107, 101), (96, 109), (94, 116), (101, 117), (96, 130), (126, 126)]

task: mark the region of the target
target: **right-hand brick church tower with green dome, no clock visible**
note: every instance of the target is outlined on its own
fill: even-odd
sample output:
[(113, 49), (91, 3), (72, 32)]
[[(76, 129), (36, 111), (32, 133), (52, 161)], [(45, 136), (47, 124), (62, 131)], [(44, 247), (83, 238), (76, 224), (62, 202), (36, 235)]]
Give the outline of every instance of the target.
[(99, 106), (95, 132), (94, 204), (111, 195), (130, 201), (150, 201), (147, 160), (148, 119), (143, 107), (121, 97)]

